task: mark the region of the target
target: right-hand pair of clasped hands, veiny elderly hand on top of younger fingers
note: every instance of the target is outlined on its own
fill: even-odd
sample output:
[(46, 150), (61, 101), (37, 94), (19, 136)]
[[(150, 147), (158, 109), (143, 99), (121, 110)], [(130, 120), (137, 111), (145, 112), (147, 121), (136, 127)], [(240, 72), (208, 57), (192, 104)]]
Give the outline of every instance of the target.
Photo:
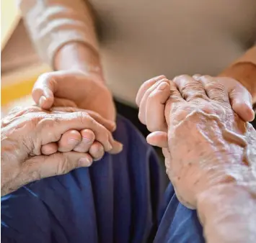
[[(234, 113), (218, 78), (152, 78), (141, 86), (136, 103), (151, 132), (147, 141), (162, 147), (167, 174), (185, 206), (196, 208), (198, 193), (213, 184), (253, 178), (255, 129)], [(232, 164), (247, 170), (225, 172)]]

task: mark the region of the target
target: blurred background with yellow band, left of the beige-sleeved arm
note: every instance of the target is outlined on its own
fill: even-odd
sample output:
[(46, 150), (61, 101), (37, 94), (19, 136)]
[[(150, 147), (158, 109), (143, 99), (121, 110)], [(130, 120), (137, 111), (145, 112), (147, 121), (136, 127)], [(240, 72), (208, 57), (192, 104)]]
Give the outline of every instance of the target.
[(1, 0), (1, 115), (13, 106), (32, 104), (32, 86), (49, 70), (37, 58), (16, 1)]

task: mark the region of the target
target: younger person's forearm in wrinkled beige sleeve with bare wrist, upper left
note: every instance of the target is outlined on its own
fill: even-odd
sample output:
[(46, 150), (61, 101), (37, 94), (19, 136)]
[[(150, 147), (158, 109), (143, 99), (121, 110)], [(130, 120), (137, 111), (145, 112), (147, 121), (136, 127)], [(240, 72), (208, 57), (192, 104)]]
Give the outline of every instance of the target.
[(56, 70), (81, 70), (102, 77), (94, 19), (86, 1), (19, 0), (19, 8), (46, 63)]

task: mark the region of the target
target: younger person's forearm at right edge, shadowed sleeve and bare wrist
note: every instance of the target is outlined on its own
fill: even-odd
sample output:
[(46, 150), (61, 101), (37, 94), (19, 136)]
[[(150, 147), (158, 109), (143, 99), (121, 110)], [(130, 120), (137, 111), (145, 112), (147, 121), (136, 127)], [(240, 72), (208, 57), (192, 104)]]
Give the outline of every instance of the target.
[(223, 70), (219, 76), (234, 78), (252, 95), (256, 103), (256, 46), (248, 50), (241, 58)]

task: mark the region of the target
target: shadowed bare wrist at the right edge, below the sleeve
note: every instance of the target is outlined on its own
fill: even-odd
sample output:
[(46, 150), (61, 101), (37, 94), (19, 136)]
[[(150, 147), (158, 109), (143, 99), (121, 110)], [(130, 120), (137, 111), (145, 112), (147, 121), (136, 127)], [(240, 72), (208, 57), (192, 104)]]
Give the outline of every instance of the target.
[(242, 83), (252, 95), (252, 102), (256, 102), (256, 65), (250, 62), (235, 63), (219, 74), (220, 77), (234, 78)]

